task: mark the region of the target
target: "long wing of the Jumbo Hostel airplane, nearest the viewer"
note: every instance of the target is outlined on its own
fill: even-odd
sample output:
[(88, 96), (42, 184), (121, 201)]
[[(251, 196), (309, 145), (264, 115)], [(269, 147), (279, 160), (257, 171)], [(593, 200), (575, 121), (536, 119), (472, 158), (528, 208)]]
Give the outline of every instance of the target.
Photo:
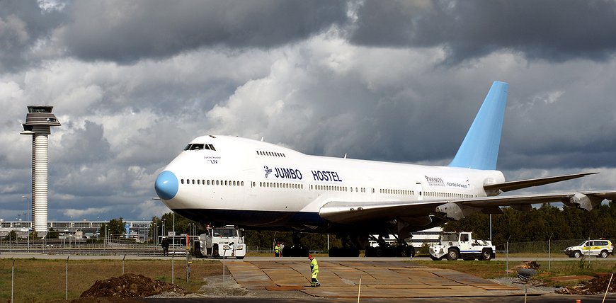
[(500, 213), (500, 206), (516, 210), (530, 210), (532, 204), (562, 202), (565, 205), (592, 210), (603, 200), (616, 199), (616, 191), (588, 191), (581, 193), (552, 193), (537, 195), (507, 195), (470, 199), (421, 201), (331, 201), (319, 210), (319, 215), (331, 222), (352, 224), (399, 217), (437, 215), (445, 219), (462, 219), (464, 215), (482, 211)]

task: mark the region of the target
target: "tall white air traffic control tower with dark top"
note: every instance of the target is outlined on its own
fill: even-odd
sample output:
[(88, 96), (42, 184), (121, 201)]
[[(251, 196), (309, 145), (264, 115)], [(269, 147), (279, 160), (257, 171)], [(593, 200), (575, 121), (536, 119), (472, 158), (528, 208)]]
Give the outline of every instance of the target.
[(47, 151), (50, 127), (60, 126), (50, 105), (29, 105), (21, 135), (32, 135), (32, 226), (47, 234)]

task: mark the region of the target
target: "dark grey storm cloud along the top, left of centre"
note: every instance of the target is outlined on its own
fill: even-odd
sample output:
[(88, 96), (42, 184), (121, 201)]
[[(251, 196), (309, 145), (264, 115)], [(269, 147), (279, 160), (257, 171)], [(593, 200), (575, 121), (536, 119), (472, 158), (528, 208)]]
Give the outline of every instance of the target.
[(274, 47), (346, 21), (343, 1), (76, 1), (57, 35), (81, 59), (133, 62), (198, 47)]

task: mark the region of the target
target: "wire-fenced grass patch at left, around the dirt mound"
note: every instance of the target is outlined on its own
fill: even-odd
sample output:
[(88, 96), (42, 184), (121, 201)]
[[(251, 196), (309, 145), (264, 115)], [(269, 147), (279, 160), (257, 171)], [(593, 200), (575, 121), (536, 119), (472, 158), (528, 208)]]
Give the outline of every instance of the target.
[(174, 257), (136, 260), (120, 256), (113, 260), (0, 259), (0, 301), (49, 302), (75, 299), (97, 280), (123, 274), (144, 275), (182, 287), (190, 292), (203, 285), (207, 275), (222, 274), (219, 261)]

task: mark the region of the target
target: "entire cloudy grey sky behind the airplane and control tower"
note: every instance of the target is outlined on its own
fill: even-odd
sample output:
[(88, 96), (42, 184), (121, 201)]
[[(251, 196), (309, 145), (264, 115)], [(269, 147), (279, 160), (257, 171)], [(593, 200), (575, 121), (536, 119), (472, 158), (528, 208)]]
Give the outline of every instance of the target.
[(0, 0), (0, 218), (28, 207), (26, 105), (62, 122), (50, 220), (149, 219), (199, 135), (446, 165), (495, 80), (508, 180), (614, 189), (615, 54), (613, 0)]

